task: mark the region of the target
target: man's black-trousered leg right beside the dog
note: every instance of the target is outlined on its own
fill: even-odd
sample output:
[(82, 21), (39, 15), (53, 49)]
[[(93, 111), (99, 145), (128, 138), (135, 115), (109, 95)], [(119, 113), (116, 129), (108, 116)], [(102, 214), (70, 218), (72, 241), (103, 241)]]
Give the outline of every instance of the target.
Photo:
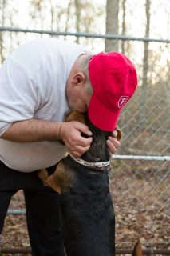
[[(34, 174), (37, 175), (37, 172)], [(38, 189), (24, 190), (33, 256), (63, 256), (60, 195), (38, 180)]]

